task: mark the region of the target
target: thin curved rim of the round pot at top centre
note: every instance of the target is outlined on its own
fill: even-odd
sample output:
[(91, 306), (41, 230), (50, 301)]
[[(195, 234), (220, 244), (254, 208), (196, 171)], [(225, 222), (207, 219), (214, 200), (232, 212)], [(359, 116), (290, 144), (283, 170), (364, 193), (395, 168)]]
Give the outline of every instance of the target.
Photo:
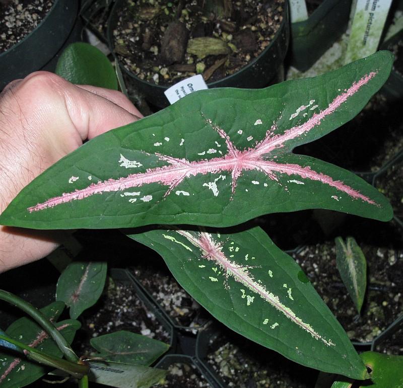
[[(153, 84), (151, 82), (148, 81), (144, 81), (141, 78), (139, 78), (136, 74), (134, 74), (133, 72), (129, 71), (126, 69), (126, 67), (121, 64), (121, 61), (118, 59), (117, 55), (115, 54), (115, 50), (114, 50), (114, 44), (113, 44), (113, 31), (111, 29), (111, 21), (112, 21), (112, 16), (114, 15), (114, 13), (116, 12), (116, 10), (118, 9), (118, 6), (123, 2), (124, 0), (116, 0), (115, 4), (113, 5), (110, 15), (108, 17), (108, 23), (107, 23), (107, 41), (108, 41), (108, 47), (109, 50), (111, 51), (113, 57), (116, 60), (116, 63), (118, 63), (119, 65), (121, 65), (121, 67), (123, 68), (123, 70), (130, 75), (131, 77), (133, 77), (137, 82), (139, 82), (140, 84), (144, 84), (147, 86), (153, 86), (155, 87), (157, 90), (160, 91), (165, 91), (167, 89), (169, 89), (171, 86), (175, 85), (176, 82), (172, 85), (158, 85), (158, 84)], [(221, 83), (225, 83), (229, 80), (232, 80), (233, 77), (238, 76), (240, 72), (252, 67), (263, 55), (265, 55), (267, 53), (267, 51), (270, 51), (272, 49), (272, 47), (275, 45), (277, 39), (279, 39), (279, 37), (281, 36), (281, 34), (283, 33), (284, 29), (287, 28), (287, 24), (288, 24), (288, 14), (289, 14), (289, 9), (288, 9), (288, 0), (285, 0), (284, 2), (284, 6), (283, 6), (283, 20), (279, 26), (279, 29), (277, 30), (275, 36), (273, 37), (273, 40), (271, 41), (271, 43), (265, 47), (263, 49), (263, 51), (255, 58), (253, 58), (247, 65), (241, 67), (238, 71), (234, 72), (233, 74), (227, 75), (226, 77), (222, 78), (221, 80), (217, 80), (211, 83), (206, 83), (207, 86), (209, 88), (217, 88), (220, 87)], [(267, 80), (269, 81), (269, 80)], [(178, 81), (179, 82), (179, 81)]]

